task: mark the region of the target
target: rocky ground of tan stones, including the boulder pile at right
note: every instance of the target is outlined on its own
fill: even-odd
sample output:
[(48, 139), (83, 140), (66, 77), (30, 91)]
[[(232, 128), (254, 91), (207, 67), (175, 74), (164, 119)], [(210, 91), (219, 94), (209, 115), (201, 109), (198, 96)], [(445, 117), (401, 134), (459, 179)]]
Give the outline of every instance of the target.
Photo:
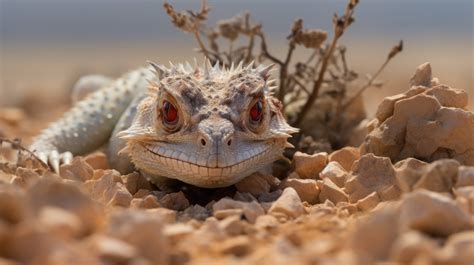
[[(429, 65), (410, 86), (379, 105), (360, 147), (297, 152), (287, 176), (226, 189), (159, 191), (100, 152), (56, 175), (4, 143), (0, 264), (472, 264), (468, 95)], [(5, 137), (39, 124), (0, 110)]]

